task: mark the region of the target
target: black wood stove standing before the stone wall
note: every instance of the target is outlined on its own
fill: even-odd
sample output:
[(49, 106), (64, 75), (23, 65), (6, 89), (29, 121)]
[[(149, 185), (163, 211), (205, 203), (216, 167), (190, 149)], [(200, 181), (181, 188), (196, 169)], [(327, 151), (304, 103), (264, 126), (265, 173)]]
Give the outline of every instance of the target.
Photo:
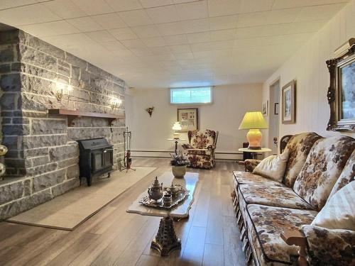
[(91, 186), (92, 177), (112, 171), (114, 165), (114, 148), (106, 138), (92, 138), (77, 140), (80, 149), (79, 167), (80, 181), (87, 178), (87, 185)]

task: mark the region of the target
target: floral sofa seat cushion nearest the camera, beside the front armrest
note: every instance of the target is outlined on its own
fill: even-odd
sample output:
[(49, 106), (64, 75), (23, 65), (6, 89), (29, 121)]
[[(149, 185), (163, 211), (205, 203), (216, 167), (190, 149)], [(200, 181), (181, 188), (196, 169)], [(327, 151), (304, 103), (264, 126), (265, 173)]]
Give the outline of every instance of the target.
[(249, 214), (247, 219), (249, 240), (253, 245), (253, 250), (260, 247), (259, 252), (256, 252), (259, 262), (286, 264), (295, 262), (299, 248), (295, 245), (286, 244), (280, 233), (286, 229), (297, 229), (304, 224), (310, 224), (317, 215), (317, 211), (286, 209), (258, 204), (249, 204), (247, 210)]

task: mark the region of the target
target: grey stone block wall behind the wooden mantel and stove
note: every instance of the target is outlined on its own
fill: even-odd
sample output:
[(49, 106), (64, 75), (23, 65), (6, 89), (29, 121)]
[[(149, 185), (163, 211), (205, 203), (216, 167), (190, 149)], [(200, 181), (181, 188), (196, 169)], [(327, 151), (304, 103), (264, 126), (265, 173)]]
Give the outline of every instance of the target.
[[(55, 97), (58, 82), (62, 101)], [(113, 97), (124, 100), (123, 80), (16, 30), (0, 32), (0, 87), (2, 143), (9, 148), (0, 181), (0, 220), (79, 186), (75, 140), (107, 138), (116, 149), (114, 167), (120, 167), (124, 119), (109, 126), (105, 118), (82, 117), (68, 127), (66, 116), (48, 115), (48, 109), (124, 114), (124, 101), (111, 109)]]

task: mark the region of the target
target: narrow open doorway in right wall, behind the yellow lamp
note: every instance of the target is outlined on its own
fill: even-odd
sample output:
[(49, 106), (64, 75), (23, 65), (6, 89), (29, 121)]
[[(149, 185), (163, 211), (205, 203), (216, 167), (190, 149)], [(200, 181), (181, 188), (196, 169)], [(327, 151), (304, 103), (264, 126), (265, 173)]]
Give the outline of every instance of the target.
[(268, 130), (268, 147), (271, 148), (273, 154), (278, 154), (278, 126), (280, 113), (280, 79), (270, 85), (270, 109), (269, 109), (269, 130)]

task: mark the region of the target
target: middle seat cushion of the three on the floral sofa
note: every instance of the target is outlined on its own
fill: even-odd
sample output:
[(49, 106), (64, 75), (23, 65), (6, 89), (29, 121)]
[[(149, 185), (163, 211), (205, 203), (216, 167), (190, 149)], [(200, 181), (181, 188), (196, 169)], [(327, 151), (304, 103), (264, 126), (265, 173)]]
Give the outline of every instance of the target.
[(244, 197), (246, 204), (261, 204), (292, 209), (313, 209), (310, 204), (295, 194), (290, 187), (241, 184), (239, 193)]

